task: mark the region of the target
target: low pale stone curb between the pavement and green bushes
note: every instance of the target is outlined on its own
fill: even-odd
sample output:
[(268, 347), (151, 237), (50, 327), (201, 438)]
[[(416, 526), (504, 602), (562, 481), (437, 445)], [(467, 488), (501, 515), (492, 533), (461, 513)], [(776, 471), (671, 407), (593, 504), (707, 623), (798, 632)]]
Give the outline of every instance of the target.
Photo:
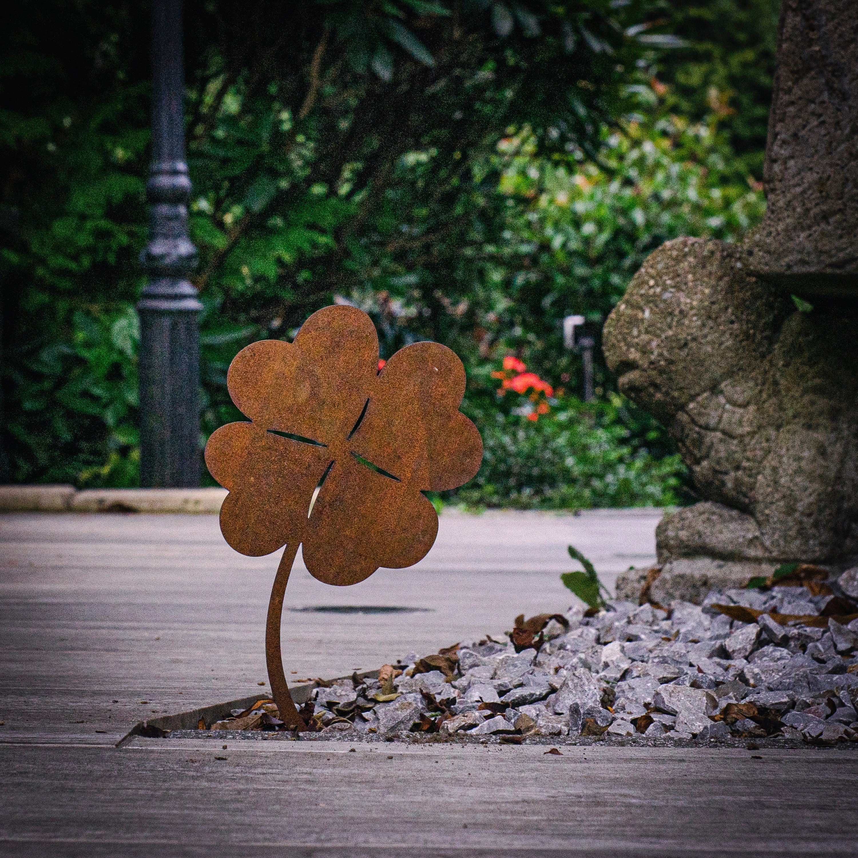
[[(0, 486), (0, 512), (173, 512), (221, 511), (225, 488), (97, 488), (78, 491), (75, 486)], [(623, 517), (662, 516), (672, 511), (656, 507), (580, 511), (488, 510), (469, 512), (454, 506), (444, 515)]]

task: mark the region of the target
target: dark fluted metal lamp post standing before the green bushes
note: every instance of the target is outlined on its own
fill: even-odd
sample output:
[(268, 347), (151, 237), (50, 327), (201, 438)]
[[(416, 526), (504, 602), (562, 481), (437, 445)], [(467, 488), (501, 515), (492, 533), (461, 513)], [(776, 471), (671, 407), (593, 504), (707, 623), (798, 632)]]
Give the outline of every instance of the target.
[(190, 178), (184, 160), (182, 0), (154, 0), (152, 164), (146, 195), (148, 273), (140, 314), (141, 485), (198, 486), (199, 334), (202, 304), (188, 281), (196, 248), (188, 238)]

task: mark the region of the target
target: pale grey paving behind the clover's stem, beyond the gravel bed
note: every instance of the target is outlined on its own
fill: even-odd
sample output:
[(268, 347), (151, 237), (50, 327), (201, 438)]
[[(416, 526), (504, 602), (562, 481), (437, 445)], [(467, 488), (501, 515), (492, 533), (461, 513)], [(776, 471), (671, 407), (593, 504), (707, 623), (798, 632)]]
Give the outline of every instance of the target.
[[(283, 618), (287, 678), (378, 668), (411, 649), (503, 634), (518, 613), (565, 610), (566, 546), (591, 557), (610, 586), (628, 565), (654, 559), (657, 518), (444, 514), (420, 564), (344, 588), (319, 583), (299, 555)], [(0, 517), (0, 689), (14, 688), (27, 712), (27, 726), (6, 717), (3, 735), (33, 735), (45, 722), (51, 734), (89, 740), (96, 728), (113, 734), (117, 721), (257, 692), (268, 679), (265, 614), (278, 559), (234, 552), (215, 516)], [(348, 606), (420, 610), (289, 610)], [(44, 695), (52, 702), (38, 715)]]

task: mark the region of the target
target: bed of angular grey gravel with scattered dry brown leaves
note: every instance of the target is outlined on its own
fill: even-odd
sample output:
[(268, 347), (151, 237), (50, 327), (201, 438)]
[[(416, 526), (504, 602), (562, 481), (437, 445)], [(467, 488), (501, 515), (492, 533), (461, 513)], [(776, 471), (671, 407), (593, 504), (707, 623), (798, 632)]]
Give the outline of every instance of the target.
[(235, 711), (205, 734), (858, 749), (858, 619), (825, 617), (831, 599), (850, 598), (837, 579), (819, 589), (829, 592), (729, 589), (703, 605), (613, 601), (592, 616), (572, 607), (543, 620), (533, 646), (486, 636), (431, 656), (410, 653), (377, 680), (320, 684), (302, 710), (311, 732), (299, 737), (279, 728), (270, 702)]

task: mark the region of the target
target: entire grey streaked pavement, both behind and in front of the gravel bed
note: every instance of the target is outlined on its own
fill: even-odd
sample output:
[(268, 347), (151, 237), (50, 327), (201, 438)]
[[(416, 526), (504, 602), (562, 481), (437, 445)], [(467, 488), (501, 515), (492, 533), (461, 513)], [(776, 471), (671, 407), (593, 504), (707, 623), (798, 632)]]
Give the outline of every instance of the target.
[[(563, 609), (569, 542), (611, 583), (651, 561), (656, 521), (445, 514), (411, 570), (338, 589), (299, 566), (287, 607), (427, 610), (290, 611), (287, 676), (375, 668)], [(849, 750), (114, 748), (153, 713), (262, 690), (276, 564), (234, 553), (212, 516), (0, 517), (0, 855), (858, 853)]]

